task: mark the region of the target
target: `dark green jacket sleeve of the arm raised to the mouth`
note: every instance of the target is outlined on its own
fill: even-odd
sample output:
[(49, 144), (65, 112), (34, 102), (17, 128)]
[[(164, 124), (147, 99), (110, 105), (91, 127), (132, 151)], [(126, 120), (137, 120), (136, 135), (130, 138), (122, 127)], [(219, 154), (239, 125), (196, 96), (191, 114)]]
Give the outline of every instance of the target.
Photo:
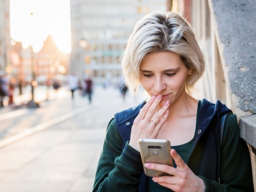
[(93, 191), (138, 191), (143, 170), (140, 152), (127, 142), (122, 150), (122, 138), (115, 120), (111, 120), (99, 159)]

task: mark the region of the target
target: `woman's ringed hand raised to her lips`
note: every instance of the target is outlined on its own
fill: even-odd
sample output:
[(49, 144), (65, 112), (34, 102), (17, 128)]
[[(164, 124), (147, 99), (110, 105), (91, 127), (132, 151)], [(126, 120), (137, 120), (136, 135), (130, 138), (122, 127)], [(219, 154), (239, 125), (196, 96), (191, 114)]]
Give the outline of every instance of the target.
[(162, 95), (151, 97), (134, 120), (129, 145), (138, 151), (140, 151), (138, 141), (140, 139), (156, 139), (161, 127), (163, 127), (166, 121), (169, 114), (169, 100), (166, 100), (164, 106), (154, 116), (162, 98)]

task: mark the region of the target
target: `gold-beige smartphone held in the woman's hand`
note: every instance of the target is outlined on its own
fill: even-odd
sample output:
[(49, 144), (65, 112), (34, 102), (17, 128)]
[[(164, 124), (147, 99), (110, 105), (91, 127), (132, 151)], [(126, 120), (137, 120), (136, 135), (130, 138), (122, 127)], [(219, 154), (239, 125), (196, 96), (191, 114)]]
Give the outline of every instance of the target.
[(168, 175), (157, 170), (150, 170), (144, 166), (145, 163), (168, 164), (173, 166), (170, 155), (171, 143), (168, 140), (141, 139), (139, 140), (140, 155), (143, 163), (145, 175), (148, 177), (158, 177)]

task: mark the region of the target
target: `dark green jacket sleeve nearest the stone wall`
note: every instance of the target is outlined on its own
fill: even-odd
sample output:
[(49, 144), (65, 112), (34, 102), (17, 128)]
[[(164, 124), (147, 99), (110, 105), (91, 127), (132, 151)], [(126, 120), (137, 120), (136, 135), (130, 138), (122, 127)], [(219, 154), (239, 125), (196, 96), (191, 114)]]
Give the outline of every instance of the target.
[(220, 183), (201, 177), (205, 191), (254, 191), (252, 165), (246, 142), (239, 137), (236, 115), (228, 115), (221, 154)]

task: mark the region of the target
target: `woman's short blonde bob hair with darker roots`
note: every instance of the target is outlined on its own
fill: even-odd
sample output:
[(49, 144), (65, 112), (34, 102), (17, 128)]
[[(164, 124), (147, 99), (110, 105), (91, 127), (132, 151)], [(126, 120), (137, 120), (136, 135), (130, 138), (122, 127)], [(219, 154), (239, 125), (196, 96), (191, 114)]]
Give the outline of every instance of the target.
[(175, 52), (193, 72), (186, 79), (190, 91), (204, 73), (204, 55), (191, 26), (177, 13), (152, 12), (138, 20), (122, 55), (122, 70), (130, 92), (140, 88), (140, 63), (151, 52)]

